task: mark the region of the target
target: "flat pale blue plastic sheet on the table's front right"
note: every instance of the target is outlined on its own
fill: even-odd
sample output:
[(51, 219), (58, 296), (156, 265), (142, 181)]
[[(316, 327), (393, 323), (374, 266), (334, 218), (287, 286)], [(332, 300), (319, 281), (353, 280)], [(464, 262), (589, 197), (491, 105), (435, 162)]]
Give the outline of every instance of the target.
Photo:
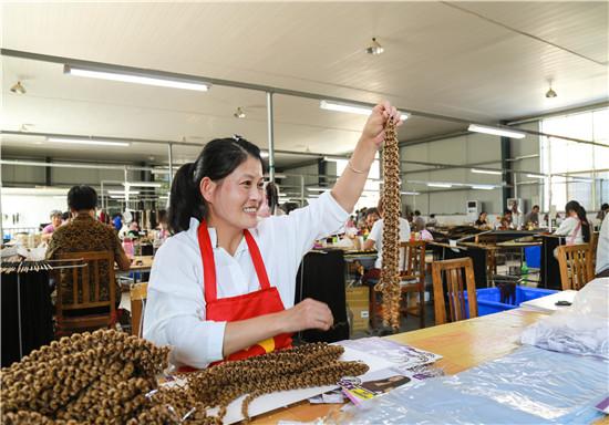
[(453, 376), (352, 407), (354, 424), (582, 424), (609, 393), (609, 362), (523, 346)]

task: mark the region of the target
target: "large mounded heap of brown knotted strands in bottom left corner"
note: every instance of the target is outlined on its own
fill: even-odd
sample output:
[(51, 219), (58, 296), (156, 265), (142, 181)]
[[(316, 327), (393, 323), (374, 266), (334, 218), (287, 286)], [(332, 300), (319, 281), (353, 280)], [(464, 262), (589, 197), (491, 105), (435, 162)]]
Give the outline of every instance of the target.
[(2, 369), (1, 423), (126, 423), (151, 407), (168, 352), (112, 330), (53, 341)]

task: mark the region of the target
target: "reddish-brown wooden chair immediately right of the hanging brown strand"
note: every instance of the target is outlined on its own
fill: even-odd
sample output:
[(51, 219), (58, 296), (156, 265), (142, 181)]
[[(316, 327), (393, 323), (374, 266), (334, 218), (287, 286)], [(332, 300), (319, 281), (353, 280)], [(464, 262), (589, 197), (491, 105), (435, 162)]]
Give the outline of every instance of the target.
[[(419, 315), (421, 329), (425, 328), (425, 241), (401, 242), (403, 252), (400, 267), (400, 292), (402, 294), (402, 314)], [(419, 305), (409, 307), (409, 294), (419, 293)]]

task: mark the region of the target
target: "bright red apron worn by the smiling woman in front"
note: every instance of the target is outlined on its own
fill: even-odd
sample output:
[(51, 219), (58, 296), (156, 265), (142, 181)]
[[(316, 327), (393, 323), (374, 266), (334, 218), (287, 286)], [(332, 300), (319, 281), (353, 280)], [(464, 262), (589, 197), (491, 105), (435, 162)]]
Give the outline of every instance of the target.
[[(277, 313), (283, 311), (283, 303), (279, 297), (277, 288), (271, 287), (262, 256), (256, 245), (256, 240), (249, 232), (244, 230), (249, 255), (260, 282), (260, 289), (255, 292), (245, 293), (242, 296), (220, 298), (217, 297), (216, 288), (216, 262), (214, 260), (214, 249), (211, 248), (211, 239), (209, 239), (209, 231), (207, 230), (207, 224), (203, 220), (198, 227), (198, 241), (199, 249), (203, 258), (203, 279), (205, 290), (205, 317), (206, 320), (235, 322), (238, 320), (246, 320), (257, 318), (264, 314)], [(273, 350), (291, 348), (291, 334), (282, 333), (268, 340), (260, 341), (259, 343), (251, 345), (245, 350), (230, 354), (225, 361), (241, 360), (251, 357), (254, 355), (260, 355), (269, 353)], [(217, 364), (216, 362), (213, 364)]]

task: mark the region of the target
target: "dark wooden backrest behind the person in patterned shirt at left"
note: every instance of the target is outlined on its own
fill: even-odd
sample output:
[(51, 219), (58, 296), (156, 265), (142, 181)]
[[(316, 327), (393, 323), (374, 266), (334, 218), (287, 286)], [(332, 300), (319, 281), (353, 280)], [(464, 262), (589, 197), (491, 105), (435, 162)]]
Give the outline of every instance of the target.
[[(109, 317), (114, 317), (114, 253), (112, 251), (65, 252), (58, 258), (73, 260), (66, 263), (75, 266), (72, 269), (59, 270), (61, 273), (58, 279), (58, 318), (61, 318), (66, 310), (84, 311), (104, 307), (109, 308)], [(78, 267), (83, 265), (84, 267)]]

